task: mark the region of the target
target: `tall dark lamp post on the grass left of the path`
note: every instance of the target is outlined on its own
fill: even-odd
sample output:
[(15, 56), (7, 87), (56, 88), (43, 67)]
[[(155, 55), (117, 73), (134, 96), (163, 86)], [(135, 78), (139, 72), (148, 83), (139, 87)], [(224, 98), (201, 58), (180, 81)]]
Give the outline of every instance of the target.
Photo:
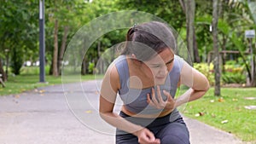
[(44, 51), (45, 51), (45, 41), (44, 41), (44, 0), (39, 1), (39, 62), (40, 62), (40, 78), (39, 82), (44, 83), (45, 72), (44, 72)]

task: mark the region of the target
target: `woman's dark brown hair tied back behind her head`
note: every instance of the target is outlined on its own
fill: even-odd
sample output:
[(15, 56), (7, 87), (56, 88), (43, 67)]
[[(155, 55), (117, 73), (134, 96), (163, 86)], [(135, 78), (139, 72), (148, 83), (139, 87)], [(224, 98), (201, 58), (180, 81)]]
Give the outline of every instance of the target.
[(121, 55), (136, 55), (137, 60), (145, 61), (164, 49), (175, 52), (176, 38), (166, 24), (151, 21), (135, 25), (126, 34), (125, 49)]

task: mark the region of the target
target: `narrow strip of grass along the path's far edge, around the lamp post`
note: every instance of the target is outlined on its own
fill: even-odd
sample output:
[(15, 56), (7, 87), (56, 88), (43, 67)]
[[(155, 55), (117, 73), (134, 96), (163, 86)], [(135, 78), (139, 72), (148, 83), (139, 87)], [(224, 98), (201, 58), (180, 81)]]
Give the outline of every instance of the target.
[(90, 79), (95, 79), (94, 75), (68, 75), (64, 77), (45, 76), (46, 83), (39, 83), (39, 75), (21, 74), (18, 76), (9, 76), (8, 81), (5, 83), (5, 88), (0, 85), (0, 95), (13, 95), (19, 94), (24, 91), (37, 89), (38, 87), (44, 87), (55, 84), (74, 83), (81, 82)]

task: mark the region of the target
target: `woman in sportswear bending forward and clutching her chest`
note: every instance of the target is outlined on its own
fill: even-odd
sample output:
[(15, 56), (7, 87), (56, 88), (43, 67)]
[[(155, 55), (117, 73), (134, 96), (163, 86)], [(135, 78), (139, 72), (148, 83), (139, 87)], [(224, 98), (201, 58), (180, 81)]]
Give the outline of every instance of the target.
[[(176, 39), (164, 23), (131, 27), (125, 49), (102, 81), (101, 117), (117, 128), (117, 144), (189, 144), (189, 130), (176, 107), (201, 98), (207, 78), (174, 55)], [(174, 98), (180, 84), (188, 89)], [(113, 112), (119, 94), (123, 106)]]

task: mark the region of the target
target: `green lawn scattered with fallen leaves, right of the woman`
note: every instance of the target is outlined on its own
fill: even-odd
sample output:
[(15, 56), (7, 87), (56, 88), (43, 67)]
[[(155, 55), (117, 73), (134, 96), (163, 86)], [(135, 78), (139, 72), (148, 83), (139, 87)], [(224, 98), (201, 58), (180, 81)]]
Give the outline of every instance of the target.
[[(244, 98), (256, 97), (256, 88), (223, 88), (220, 97), (214, 96), (213, 90), (200, 100), (189, 102), (183, 114), (236, 135), (242, 141), (255, 141), (256, 110), (248, 110), (245, 106), (256, 106), (256, 100)], [(227, 123), (223, 123), (225, 120)]]

